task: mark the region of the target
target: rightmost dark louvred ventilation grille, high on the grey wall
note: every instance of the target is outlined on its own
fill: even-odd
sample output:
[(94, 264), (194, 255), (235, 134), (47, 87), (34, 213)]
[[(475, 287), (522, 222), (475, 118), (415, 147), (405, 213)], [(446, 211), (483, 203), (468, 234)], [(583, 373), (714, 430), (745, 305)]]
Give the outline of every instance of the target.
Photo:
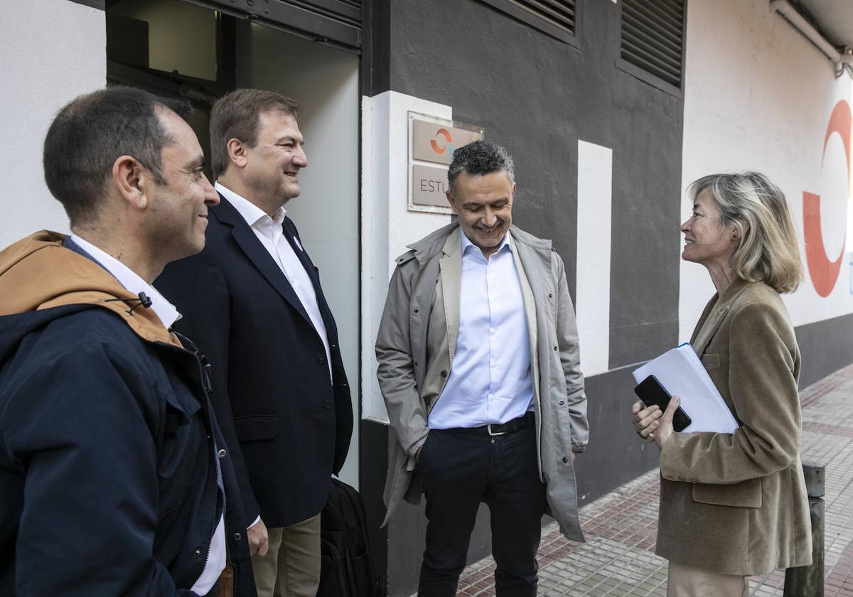
[(622, 0), (622, 58), (682, 88), (685, 0)]

